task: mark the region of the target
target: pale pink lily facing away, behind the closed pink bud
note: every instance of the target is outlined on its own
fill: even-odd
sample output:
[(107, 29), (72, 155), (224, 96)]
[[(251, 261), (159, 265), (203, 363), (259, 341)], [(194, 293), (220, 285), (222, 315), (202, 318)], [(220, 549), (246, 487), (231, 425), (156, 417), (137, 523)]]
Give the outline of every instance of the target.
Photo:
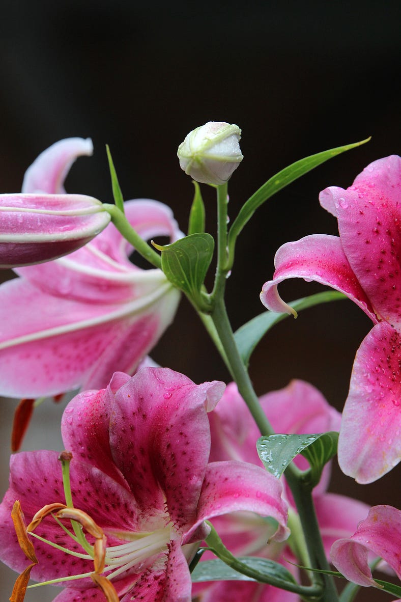
[[(63, 192), (70, 164), (91, 142), (61, 140), (29, 167), (23, 192)], [(155, 200), (126, 203), (145, 239), (181, 233)], [(0, 382), (3, 396), (53, 396), (102, 388), (115, 370), (132, 374), (173, 320), (180, 294), (161, 270), (129, 261), (132, 248), (114, 225), (69, 256), (16, 270), (0, 287)]]

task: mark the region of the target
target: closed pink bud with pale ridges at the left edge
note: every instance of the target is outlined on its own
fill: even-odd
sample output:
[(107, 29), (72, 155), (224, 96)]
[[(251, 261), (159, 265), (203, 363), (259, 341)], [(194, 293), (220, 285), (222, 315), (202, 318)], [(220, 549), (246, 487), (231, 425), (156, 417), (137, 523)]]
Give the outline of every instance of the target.
[(84, 194), (0, 194), (0, 268), (67, 255), (109, 221), (100, 200)]

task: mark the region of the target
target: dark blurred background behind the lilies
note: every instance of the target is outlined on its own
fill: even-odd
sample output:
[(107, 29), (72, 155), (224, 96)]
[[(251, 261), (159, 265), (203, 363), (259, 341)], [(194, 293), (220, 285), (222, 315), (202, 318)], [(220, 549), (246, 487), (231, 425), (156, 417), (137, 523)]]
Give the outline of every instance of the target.
[[(399, 3), (227, 0), (2, 4), (0, 64), (0, 186), (19, 191), (26, 167), (55, 141), (93, 138), (94, 157), (81, 158), (70, 192), (111, 201), (105, 143), (111, 147), (126, 199), (170, 205), (186, 229), (191, 180), (176, 149), (209, 120), (242, 128), (243, 163), (230, 182), (230, 214), (263, 182), (293, 161), (362, 140), (281, 191), (243, 231), (227, 285), (234, 329), (263, 311), (259, 292), (274, 271), (278, 246), (307, 234), (337, 234), (320, 208), (319, 191), (347, 187), (368, 163), (399, 153)], [(207, 227), (215, 228), (212, 190), (204, 190)], [(11, 273), (4, 273), (11, 277)], [(320, 288), (283, 284), (286, 300)], [(7, 316), (1, 315), (2, 320)], [(371, 327), (351, 302), (302, 312), (266, 336), (251, 360), (259, 394), (292, 378), (309, 380), (343, 407), (355, 352)], [(228, 375), (188, 303), (152, 354), (195, 382)], [(7, 488), (10, 423), (15, 401), (2, 405), (2, 495)], [(24, 449), (61, 448), (62, 405), (41, 406)], [(53, 432), (52, 432), (53, 430)], [(399, 506), (400, 470), (358, 486), (334, 467), (331, 489), (370, 505)], [(3, 569), (2, 583), (11, 571)], [(28, 600), (52, 600), (54, 589)], [(4, 588), (3, 591), (8, 591)], [(35, 595), (37, 594), (37, 598)], [(48, 596), (45, 598), (45, 596)], [(364, 591), (360, 600), (379, 600)]]

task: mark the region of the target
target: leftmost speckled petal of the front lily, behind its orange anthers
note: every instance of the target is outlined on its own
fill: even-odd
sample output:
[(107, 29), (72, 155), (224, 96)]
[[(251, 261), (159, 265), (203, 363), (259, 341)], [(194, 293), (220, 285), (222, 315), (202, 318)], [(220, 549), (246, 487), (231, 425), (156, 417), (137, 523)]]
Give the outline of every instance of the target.
[[(44, 450), (20, 452), (11, 456), (10, 488), (0, 504), (0, 557), (13, 569), (25, 568), (26, 558), (17, 544), (11, 521), (11, 508), (16, 499), (20, 500), (28, 524), (35, 512), (44, 505), (55, 501), (65, 502), (58, 455), (58, 452)], [(126, 488), (75, 457), (70, 463), (70, 477), (75, 506), (90, 514), (106, 534), (115, 530), (137, 530), (139, 523), (135, 499)], [(52, 517), (46, 517), (35, 529), (35, 533), (64, 547), (82, 551), (79, 545), (65, 535)], [(32, 541), (39, 560), (31, 573), (32, 579), (36, 581), (93, 570), (92, 560), (76, 559), (37, 539), (32, 538)], [(110, 537), (108, 543), (115, 545), (118, 541), (115, 537)], [(46, 561), (43, 562), (43, 559)], [(82, 581), (82, 587), (88, 585), (91, 585), (90, 579)]]

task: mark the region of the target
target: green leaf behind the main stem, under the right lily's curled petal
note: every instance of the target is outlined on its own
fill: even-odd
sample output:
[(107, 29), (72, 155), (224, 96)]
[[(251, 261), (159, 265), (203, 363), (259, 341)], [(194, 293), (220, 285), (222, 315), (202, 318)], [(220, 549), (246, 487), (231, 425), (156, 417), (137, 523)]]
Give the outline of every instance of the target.
[[(291, 301), (289, 305), (296, 311), (301, 309), (307, 309), (320, 303), (327, 303), (329, 301), (338, 301), (340, 299), (347, 299), (343, 293), (338, 291), (324, 291), (323, 293), (317, 293), (310, 297), (303, 297), (296, 301)], [(265, 311), (263, 314), (257, 315), (239, 329), (234, 334), (239, 353), (242, 357), (244, 364), (249, 364), (249, 358), (251, 357), (255, 347), (260, 340), (265, 336), (266, 332), (271, 329), (272, 326), (278, 324), (284, 318), (288, 318), (290, 314), (281, 314), (275, 311)]]

